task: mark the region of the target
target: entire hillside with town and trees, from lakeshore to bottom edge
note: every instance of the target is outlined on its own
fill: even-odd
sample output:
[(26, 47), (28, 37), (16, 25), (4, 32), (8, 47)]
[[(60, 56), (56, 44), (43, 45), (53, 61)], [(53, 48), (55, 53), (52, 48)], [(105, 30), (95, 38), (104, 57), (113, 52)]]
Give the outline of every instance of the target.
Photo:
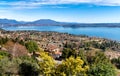
[(120, 66), (120, 43), (116, 41), (58, 32), (0, 33), (1, 76), (116, 76)]

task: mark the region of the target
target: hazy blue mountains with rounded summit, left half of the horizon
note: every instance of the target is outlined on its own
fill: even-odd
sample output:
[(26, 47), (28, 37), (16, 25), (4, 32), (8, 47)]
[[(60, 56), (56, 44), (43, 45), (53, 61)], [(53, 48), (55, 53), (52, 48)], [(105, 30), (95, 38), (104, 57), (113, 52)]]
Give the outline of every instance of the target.
[(66, 24), (64, 22), (57, 22), (51, 19), (40, 19), (40, 20), (36, 20), (33, 22), (24, 22), (24, 21), (16, 21), (16, 20), (12, 20), (12, 19), (0, 19), (0, 24), (1, 25), (9, 25), (9, 26), (27, 26), (27, 25), (63, 25)]

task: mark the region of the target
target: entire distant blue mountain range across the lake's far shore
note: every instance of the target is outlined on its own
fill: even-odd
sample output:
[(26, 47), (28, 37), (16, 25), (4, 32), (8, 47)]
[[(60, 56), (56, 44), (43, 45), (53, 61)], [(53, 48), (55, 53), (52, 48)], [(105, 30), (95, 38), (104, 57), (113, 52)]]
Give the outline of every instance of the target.
[(40, 19), (33, 22), (0, 19), (0, 27), (8, 26), (63, 26), (63, 27), (120, 27), (120, 23), (70, 23), (58, 22), (51, 19)]

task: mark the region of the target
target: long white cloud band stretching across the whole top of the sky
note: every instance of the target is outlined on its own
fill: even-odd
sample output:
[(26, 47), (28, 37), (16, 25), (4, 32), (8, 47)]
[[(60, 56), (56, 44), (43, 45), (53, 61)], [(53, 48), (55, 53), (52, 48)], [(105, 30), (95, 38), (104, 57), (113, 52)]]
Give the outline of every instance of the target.
[[(20, 8), (37, 8), (42, 6), (51, 5), (60, 5), (60, 4), (94, 4), (100, 6), (120, 6), (120, 0), (21, 0), (21, 1), (0, 1), (0, 6), (10, 6), (15, 9)], [(56, 6), (54, 8), (62, 8), (62, 6)]]

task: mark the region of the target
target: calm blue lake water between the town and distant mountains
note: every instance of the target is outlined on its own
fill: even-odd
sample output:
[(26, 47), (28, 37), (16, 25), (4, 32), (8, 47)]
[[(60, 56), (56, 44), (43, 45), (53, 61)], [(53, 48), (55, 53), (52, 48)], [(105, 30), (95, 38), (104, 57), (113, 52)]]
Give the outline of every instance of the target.
[(107, 28), (107, 27), (68, 28), (62, 26), (19, 26), (19, 27), (5, 27), (3, 29), (11, 31), (16, 30), (56, 31), (75, 35), (96, 36), (120, 41), (120, 28)]

